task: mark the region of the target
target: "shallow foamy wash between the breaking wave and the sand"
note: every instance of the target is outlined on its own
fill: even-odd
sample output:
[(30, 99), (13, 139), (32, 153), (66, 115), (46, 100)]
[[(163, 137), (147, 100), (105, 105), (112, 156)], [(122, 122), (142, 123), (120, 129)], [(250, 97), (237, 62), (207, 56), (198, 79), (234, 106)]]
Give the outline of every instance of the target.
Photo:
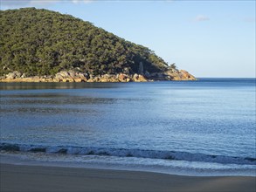
[[(82, 159), (80, 159), (82, 158)], [(164, 175), (180, 175), (180, 176), (195, 176), (195, 177), (217, 177), (217, 176), (246, 176), (256, 177), (255, 167), (234, 168), (233, 165), (222, 165), (213, 163), (212, 165), (204, 162), (165, 162), (156, 161), (151, 163), (146, 161), (145, 164), (141, 159), (126, 159), (123, 163), (123, 158), (107, 158), (100, 156), (73, 156), (69, 154), (44, 154), (44, 153), (0, 153), (0, 163), (24, 166), (43, 166), (56, 168), (93, 168), (106, 170), (121, 170), (135, 172), (150, 172)], [(136, 163), (135, 161), (141, 161)], [(179, 165), (177, 165), (178, 163)], [(191, 165), (188, 166), (187, 163)], [(218, 168), (207, 168), (209, 166)]]

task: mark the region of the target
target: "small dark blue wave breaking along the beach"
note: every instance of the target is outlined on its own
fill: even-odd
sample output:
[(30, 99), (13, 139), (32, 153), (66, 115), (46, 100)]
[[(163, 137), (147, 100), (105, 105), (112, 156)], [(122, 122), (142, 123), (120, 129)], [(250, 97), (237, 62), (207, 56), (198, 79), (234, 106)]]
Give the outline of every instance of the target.
[(72, 146), (40, 146), (0, 143), (0, 150), (20, 151), (20, 152), (41, 152), (46, 154), (83, 154), (83, 155), (103, 155), (117, 157), (139, 157), (149, 159), (164, 159), (176, 161), (204, 161), (218, 162), (222, 164), (256, 165), (256, 158), (234, 157), (215, 154), (191, 154), (180, 151), (161, 151), (145, 149), (126, 148), (101, 148), (101, 147), (72, 147)]

